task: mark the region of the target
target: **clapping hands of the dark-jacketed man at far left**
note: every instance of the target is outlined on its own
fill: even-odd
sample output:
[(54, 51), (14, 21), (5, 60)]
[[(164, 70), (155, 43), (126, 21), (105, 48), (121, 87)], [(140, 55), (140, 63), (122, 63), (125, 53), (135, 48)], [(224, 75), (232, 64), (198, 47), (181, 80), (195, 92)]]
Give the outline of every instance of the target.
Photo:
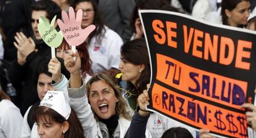
[(25, 59), (27, 56), (35, 51), (35, 42), (32, 38), (27, 38), (25, 34), (22, 32), (16, 33), (14, 36), (16, 42), (14, 42), (14, 46), (18, 49), (17, 59), (20, 65), (25, 64)]

